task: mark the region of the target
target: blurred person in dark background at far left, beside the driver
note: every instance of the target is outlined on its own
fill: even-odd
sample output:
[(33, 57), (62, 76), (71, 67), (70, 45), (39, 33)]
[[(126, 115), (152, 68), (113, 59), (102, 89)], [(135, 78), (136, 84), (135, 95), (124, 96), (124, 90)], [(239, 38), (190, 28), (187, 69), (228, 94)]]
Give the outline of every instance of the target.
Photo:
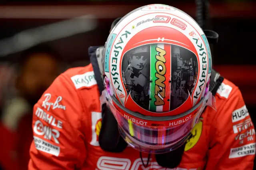
[(46, 45), (32, 47), (21, 55), (14, 85), (6, 89), (3, 99), (0, 163), (4, 170), (27, 169), (33, 106), (58, 75), (58, 58), (58, 53)]

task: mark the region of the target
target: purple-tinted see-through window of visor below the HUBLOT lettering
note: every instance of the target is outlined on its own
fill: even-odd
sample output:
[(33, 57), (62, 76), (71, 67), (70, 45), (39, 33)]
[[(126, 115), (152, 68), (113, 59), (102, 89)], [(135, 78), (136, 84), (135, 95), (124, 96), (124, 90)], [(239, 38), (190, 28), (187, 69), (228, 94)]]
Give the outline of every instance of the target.
[[(128, 137), (125, 138), (128, 143), (134, 143), (134, 147), (136, 144), (143, 146), (144, 152), (149, 152), (149, 150), (152, 152), (154, 150), (154, 153), (159, 153), (160, 150), (166, 150), (166, 148), (170, 151), (170, 148), (177, 147), (175, 144), (190, 133), (194, 121), (191, 119), (176, 127), (143, 127), (132, 123), (132, 121), (125, 119), (120, 114), (116, 114), (116, 118), (121, 128), (122, 136)], [(148, 148), (148, 151), (145, 148)]]

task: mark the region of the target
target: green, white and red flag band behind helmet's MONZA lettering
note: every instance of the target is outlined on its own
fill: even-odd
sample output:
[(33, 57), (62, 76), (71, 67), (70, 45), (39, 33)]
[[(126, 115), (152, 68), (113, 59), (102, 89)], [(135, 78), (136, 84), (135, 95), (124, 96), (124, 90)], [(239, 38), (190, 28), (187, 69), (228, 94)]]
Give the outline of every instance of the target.
[[(159, 87), (160, 90), (164, 90), (164, 97), (162, 97), (159, 93), (157, 94), (160, 100), (164, 101), (163, 105), (155, 105), (156, 97), (155, 97), (155, 89), (156, 89), (156, 80), (158, 79), (156, 77), (156, 55), (159, 54), (159, 52), (156, 50), (156, 47), (159, 47), (161, 49), (164, 49), (166, 51), (166, 54), (164, 55), (164, 58), (166, 62), (164, 63), (166, 73), (164, 75), (165, 81), (164, 83), (165, 87), (162, 89), (162, 87)], [(167, 112), (170, 110), (170, 77), (171, 77), (171, 45), (170, 44), (164, 44), (164, 43), (158, 43), (158, 44), (152, 44), (150, 45), (150, 80), (152, 83), (150, 83), (150, 105), (149, 109), (152, 112)], [(159, 90), (159, 89), (157, 89)]]

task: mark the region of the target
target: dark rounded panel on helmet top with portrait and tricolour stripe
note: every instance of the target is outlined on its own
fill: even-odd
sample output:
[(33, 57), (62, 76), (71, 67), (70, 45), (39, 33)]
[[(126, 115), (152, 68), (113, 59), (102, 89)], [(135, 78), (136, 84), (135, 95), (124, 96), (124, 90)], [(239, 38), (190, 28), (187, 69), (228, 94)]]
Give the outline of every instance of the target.
[[(164, 48), (169, 49), (169, 51), (164, 50)], [(161, 53), (161, 50), (165, 53), (164, 58), (166, 61), (164, 63), (165, 66), (159, 65), (158, 69), (160, 72), (163, 71), (162, 73), (166, 73), (166, 71), (170, 73), (170, 89), (163, 87), (163, 85), (168, 86), (169, 82), (158, 86), (157, 83), (161, 81), (161, 77), (159, 80), (158, 77), (155, 77), (155, 83), (153, 81), (150, 83), (150, 75), (157, 74), (155, 67), (157, 60), (151, 55)], [(183, 57), (180, 53), (182, 53)], [(171, 68), (171, 70), (168, 71), (168, 68)], [(196, 83), (197, 70), (198, 61), (196, 55), (188, 49), (173, 44), (142, 45), (127, 51), (122, 59), (122, 78), (127, 94), (130, 93), (131, 98), (140, 107), (153, 112), (166, 112), (182, 105), (188, 99), (188, 94), (192, 95)], [(167, 93), (150, 93), (150, 90), (155, 91), (155, 88)], [(154, 97), (154, 95), (157, 95), (157, 97)], [(164, 102), (164, 98), (166, 102)], [(150, 99), (159, 101), (160, 107), (155, 105), (155, 100), (150, 101)]]

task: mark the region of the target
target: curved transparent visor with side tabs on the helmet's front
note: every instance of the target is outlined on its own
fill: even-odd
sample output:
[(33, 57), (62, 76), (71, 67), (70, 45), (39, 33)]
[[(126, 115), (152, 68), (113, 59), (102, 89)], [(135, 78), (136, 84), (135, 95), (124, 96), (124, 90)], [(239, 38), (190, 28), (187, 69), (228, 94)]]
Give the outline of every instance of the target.
[[(165, 152), (170, 152), (170, 150), (175, 150), (180, 147), (190, 135), (190, 131), (198, 122), (198, 119), (204, 108), (207, 105), (212, 106), (215, 109), (215, 98), (211, 95), (211, 92), (208, 92), (207, 96), (202, 99), (200, 105), (196, 105), (196, 109), (193, 110), (193, 116), (191, 119), (184, 121), (184, 123), (176, 124), (173, 126), (150, 126), (152, 124), (148, 123), (145, 125), (140, 125), (134, 119), (139, 119), (135, 117), (136, 113), (132, 111), (124, 111), (124, 108), (121, 104), (114, 102), (114, 96), (110, 96), (109, 93), (105, 90), (102, 92), (101, 102), (107, 103), (107, 106), (112, 111), (115, 116), (118, 126), (120, 128), (120, 134), (126, 140), (128, 144), (134, 147), (141, 152), (160, 154)], [(107, 100), (106, 100), (107, 99)], [(116, 104), (114, 105), (113, 102)], [(117, 108), (118, 107), (118, 108)], [(191, 114), (189, 112), (184, 115), (187, 116)], [(125, 117), (124, 115), (130, 115)], [(132, 118), (133, 117), (133, 118)], [(152, 117), (151, 119), (153, 119)], [(176, 121), (165, 120), (165, 121)], [(145, 122), (148, 120), (144, 120)], [(156, 121), (157, 122), (157, 121)], [(166, 124), (170, 125), (170, 124)]]

